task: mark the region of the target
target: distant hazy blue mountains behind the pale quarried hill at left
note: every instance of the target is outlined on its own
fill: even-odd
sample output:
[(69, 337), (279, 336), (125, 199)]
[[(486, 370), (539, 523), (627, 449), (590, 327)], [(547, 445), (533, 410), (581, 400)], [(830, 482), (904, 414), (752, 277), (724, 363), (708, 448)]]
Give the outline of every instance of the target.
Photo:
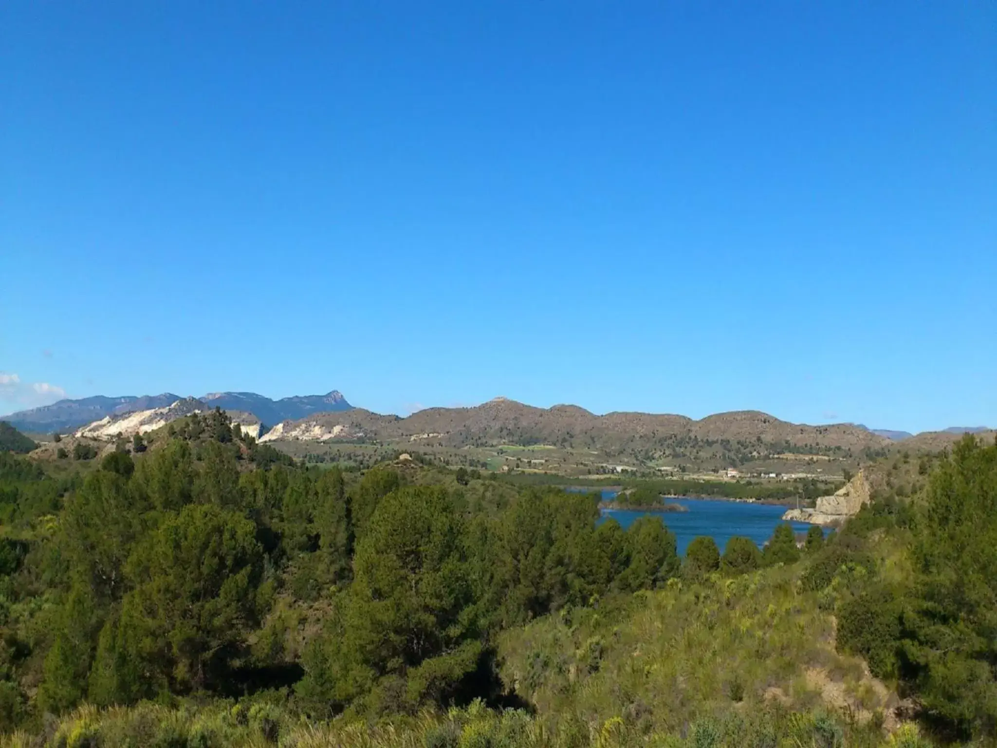
[[(141, 397), (96, 395), (80, 400), (60, 400), (52, 405), (3, 416), (2, 420), (22, 432), (51, 434), (74, 431), (108, 416), (166, 408), (183, 399), (171, 392)], [(254, 392), (212, 392), (196, 399), (204, 404), (204, 410), (219, 407), (226, 411), (251, 413), (268, 425), (305, 418), (315, 413), (350, 410), (353, 407), (337, 390), (325, 395), (295, 395), (280, 400), (271, 400)]]

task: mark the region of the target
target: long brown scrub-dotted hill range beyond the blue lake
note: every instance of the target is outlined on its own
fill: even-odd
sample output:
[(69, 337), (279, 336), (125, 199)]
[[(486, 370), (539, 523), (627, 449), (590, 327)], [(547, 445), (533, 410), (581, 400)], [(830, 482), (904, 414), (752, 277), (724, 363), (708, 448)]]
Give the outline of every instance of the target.
[(509, 449), (546, 450), (517, 456), (572, 475), (622, 465), (673, 473), (739, 469), (839, 477), (889, 454), (950, 447), (959, 436), (939, 432), (894, 442), (852, 424), (793, 424), (758, 411), (695, 421), (648, 413), (597, 416), (573, 405), (534, 408), (498, 398), (474, 408), (429, 408), (407, 418), (362, 408), (318, 414), (277, 424), (263, 439), (298, 456), (321, 458), (349, 444), (435, 450), (451, 460), (475, 461), (472, 465), (503, 461)]

